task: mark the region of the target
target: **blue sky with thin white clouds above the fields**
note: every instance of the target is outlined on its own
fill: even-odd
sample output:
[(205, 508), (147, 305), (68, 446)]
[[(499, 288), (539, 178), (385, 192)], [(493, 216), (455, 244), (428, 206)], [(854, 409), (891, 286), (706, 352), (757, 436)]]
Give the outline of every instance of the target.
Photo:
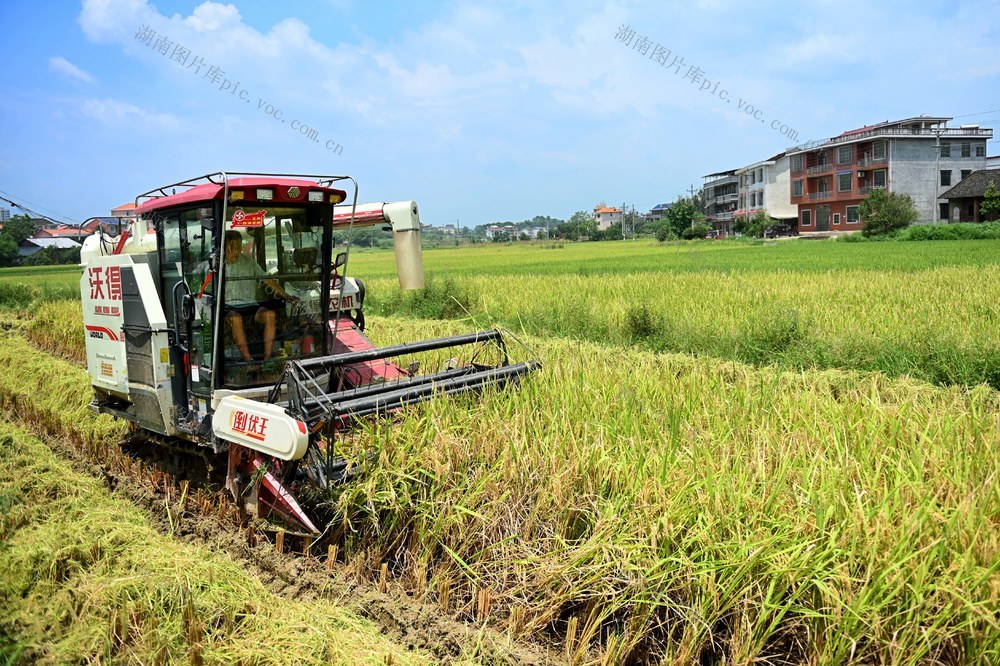
[(5, 0), (0, 25), (0, 192), (58, 219), (219, 170), (350, 174), (434, 225), (567, 218), (887, 119), (1000, 129), (1000, 0)]

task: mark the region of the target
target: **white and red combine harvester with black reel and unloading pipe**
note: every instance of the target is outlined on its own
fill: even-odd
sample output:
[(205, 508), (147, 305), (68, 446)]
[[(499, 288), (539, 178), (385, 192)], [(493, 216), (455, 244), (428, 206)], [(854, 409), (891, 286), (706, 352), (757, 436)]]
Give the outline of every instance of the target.
[(135, 203), (128, 228), (81, 252), (93, 407), (225, 454), (251, 515), (318, 532), (295, 494), (351, 475), (337, 440), (357, 419), (539, 367), (511, 362), (497, 330), (382, 348), (365, 336), (365, 287), (342, 274), (334, 234), (387, 225), (400, 286), (420, 289), (412, 201), (358, 206), (346, 176), (220, 172)]

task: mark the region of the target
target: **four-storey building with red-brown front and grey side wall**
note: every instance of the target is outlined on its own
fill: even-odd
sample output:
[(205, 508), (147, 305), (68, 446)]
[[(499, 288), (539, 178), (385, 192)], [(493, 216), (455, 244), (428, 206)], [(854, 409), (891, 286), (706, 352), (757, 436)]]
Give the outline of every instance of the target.
[(993, 137), (978, 125), (948, 127), (949, 120), (886, 121), (789, 149), (799, 232), (861, 229), (858, 206), (874, 189), (908, 194), (921, 222), (947, 220), (941, 195), (986, 166)]

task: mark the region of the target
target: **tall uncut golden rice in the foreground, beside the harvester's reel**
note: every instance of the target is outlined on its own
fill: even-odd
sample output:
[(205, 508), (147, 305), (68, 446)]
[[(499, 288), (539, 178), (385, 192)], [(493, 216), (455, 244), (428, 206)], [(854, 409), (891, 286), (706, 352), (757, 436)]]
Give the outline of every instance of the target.
[(349, 549), (613, 660), (1000, 658), (996, 391), (533, 344), (519, 390), (370, 429)]

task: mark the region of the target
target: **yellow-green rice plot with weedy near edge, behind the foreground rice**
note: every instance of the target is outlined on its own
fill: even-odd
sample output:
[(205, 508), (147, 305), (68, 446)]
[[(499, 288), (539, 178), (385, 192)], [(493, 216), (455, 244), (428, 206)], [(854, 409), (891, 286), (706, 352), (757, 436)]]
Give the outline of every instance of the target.
[[(835, 244), (831, 244), (835, 245)], [(922, 271), (641, 271), (370, 281), (373, 311), (499, 321), (535, 335), (786, 368), (1000, 388), (1000, 265)], [(437, 308), (435, 310), (435, 307)], [(447, 308), (447, 309), (446, 309)]]

